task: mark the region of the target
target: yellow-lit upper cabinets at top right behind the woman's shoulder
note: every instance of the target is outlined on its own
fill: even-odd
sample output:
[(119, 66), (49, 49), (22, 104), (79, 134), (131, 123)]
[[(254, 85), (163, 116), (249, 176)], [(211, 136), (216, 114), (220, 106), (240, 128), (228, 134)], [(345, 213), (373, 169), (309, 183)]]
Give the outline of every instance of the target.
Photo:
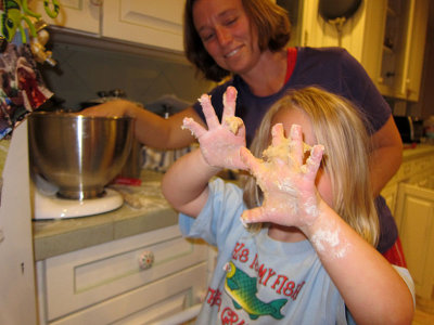
[(429, 0), (362, 1), (341, 32), (321, 17), (318, 2), (304, 2), (303, 46), (341, 46), (363, 65), (383, 95), (419, 100)]

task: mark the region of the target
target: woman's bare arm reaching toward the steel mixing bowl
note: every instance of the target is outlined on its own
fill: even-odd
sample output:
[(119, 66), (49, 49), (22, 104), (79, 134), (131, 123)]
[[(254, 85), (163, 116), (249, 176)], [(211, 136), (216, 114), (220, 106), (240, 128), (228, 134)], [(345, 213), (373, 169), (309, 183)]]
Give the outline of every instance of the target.
[(165, 119), (126, 100), (110, 101), (89, 107), (80, 114), (91, 116), (129, 116), (136, 119), (135, 134), (139, 142), (155, 148), (180, 148), (194, 142), (190, 132), (181, 129), (186, 117), (205, 125), (193, 107), (188, 107)]

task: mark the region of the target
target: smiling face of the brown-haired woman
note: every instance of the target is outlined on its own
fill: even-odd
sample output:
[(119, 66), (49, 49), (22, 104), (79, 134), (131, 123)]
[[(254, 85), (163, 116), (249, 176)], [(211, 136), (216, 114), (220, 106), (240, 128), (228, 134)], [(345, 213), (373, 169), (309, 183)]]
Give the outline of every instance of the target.
[(242, 0), (196, 0), (193, 21), (206, 51), (221, 68), (242, 75), (258, 62), (257, 31)]

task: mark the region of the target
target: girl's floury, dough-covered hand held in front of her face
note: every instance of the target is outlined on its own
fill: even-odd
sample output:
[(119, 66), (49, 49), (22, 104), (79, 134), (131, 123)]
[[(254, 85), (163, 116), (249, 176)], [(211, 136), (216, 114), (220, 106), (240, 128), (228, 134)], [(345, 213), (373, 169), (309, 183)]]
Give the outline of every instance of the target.
[(318, 218), (321, 200), (315, 179), (321, 162), (323, 146), (315, 145), (304, 164), (305, 146), (302, 127), (293, 125), (290, 139), (283, 126), (271, 130), (272, 143), (264, 152), (265, 160), (255, 158), (246, 148), (241, 151), (244, 164), (256, 178), (264, 193), (263, 206), (245, 210), (242, 219), (250, 222), (272, 222), (303, 229)]

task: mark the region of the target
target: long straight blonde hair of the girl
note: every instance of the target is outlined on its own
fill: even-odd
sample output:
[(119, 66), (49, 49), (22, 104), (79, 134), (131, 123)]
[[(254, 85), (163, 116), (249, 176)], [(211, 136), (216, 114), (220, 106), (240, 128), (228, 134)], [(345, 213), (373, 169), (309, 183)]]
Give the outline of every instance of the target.
[[(361, 115), (347, 100), (319, 88), (292, 90), (265, 115), (251, 146), (256, 157), (268, 147), (272, 118), (281, 109), (307, 114), (318, 144), (326, 147), (321, 168), (331, 179), (333, 209), (376, 245), (380, 230), (369, 176), (371, 142)], [(256, 207), (263, 199), (260, 190), (253, 177), (244, 178), (244, 202), (248, 208)]]

